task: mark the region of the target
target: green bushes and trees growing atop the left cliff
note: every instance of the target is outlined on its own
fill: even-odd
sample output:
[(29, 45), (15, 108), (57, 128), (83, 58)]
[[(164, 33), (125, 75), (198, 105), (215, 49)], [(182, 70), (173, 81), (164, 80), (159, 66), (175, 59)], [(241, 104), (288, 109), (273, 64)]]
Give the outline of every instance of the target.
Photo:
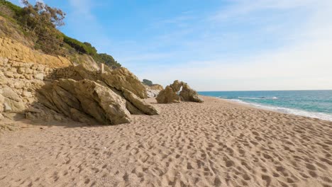
[(75, 59), (77, 55), (90, 55), (97, 63), (104, 63), (112, 68), (121, 67), (111, 55), (99, 54), (89, 42), (80, 42), (57, 30), (65, 25), (65, 13), (59, 8), (50, 7), (40, 1), (35, 5), (27, 0), (22, 3), (23, 8), (0, 0), (0, 16), (18, 25), (26, 38), (32, 40), (35, 49), (48, 55), (61, 55), (70, 59)]

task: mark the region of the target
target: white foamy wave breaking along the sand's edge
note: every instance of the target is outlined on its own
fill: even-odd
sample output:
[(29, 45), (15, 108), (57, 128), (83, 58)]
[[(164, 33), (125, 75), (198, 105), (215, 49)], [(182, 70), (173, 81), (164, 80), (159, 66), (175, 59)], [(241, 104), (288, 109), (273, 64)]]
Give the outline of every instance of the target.
[(332, 115), (329, 115), (327, 113), (315, 113), (315, 112), (309, 112), (309, 111), (301, 111), (298, 109), (293, 109), (293, 108), (284, 108), (284, 107), (279, 107), (279, 106), (265, 106), (265, 105), (260, 105), (257, 103), (248, 103), (245, 101), (241, 101), (240, 99), (230, 99), (231, 101), (236, 101), (237, 103), (242, 103), (250, 106), (255, 106), (257, 108), (262, 108), (262, 109), (267, 109), (270, 111), (277, 111), (280, 113), (289, 113), (293, 115), (301, 115), (304, 117), (309, 117), (309, 118), (319, 118), (321, 120), (329, 120), (332, 121)]

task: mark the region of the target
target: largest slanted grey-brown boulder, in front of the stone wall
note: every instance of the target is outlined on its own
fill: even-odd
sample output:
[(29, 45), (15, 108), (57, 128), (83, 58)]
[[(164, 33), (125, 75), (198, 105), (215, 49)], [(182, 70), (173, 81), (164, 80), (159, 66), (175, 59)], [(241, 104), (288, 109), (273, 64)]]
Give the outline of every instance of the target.
[(105, 125), (130, 122), (126, 101), (95, 81), (60, 79), (55, 81), (51, 89), (43, 89), (41, 94), (46, 98), (40, 100), (45, 106), (73, 120), (80, 120), (85, 115), (80, 121), (89, 122), (94, 118)]

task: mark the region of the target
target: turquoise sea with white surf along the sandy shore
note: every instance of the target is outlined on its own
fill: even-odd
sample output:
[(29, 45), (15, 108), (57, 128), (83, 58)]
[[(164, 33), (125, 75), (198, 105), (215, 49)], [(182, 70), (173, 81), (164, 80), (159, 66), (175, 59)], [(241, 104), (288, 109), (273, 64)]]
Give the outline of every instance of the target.
[(332, 121), (332, 90), (312, 91), (199, 91), (214, 96), (282, 113)]

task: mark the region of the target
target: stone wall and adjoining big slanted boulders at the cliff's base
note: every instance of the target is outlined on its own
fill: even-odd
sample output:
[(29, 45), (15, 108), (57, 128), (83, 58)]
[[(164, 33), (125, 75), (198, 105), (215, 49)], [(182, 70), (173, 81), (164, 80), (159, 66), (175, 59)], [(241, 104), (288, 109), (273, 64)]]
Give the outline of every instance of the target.
[(38, 120), (89, 124), (128, 123), (131, 114), (156, 115), (143, 98), (142, 83), (126, 68), (87, 64), (52, 68), (0, 57), (0, 119), (25, 115)]

